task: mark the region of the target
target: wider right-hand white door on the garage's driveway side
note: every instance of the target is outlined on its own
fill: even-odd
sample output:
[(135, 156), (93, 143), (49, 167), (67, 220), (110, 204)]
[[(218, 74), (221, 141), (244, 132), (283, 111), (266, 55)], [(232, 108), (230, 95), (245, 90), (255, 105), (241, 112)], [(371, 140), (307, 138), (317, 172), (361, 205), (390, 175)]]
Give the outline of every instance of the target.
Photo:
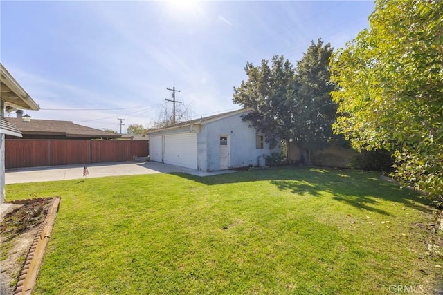
[(197, 133), (165, 135), (165, 163), (197, 169)]

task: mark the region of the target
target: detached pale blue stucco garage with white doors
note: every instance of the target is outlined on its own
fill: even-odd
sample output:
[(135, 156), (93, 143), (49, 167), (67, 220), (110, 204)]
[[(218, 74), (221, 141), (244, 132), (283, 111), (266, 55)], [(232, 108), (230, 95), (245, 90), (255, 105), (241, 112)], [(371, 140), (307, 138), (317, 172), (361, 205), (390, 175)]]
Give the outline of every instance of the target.
[(264, 135), (243, 121), (242, 109), (148, 132), (150, 160), (199, 171), (258, 166), (259, 157), (280, 153), (270, 149)]

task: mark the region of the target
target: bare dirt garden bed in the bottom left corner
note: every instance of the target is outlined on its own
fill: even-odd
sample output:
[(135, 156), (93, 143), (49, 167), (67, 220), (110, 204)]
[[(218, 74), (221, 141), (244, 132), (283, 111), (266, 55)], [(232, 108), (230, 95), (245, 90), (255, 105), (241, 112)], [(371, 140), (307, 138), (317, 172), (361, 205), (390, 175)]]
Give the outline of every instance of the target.
[[(48, 216), (55, 199), (31, 198), (13, 202), (10, 212), (1, 220), (0, 225), (0, 294), (15, 294), (17, 283), (23, 285), (28, 274), (24, 268), (30, 266), (37, 244), (44, 245), (44, 234)], [(55, 213), (57, 208), (55, 209)], [(50, 222), (52, 223), (52, 222)], [(46, 238), (47, 239), (47, 238)], [(44, 252), (44, 249), (42, 253)], [(37, 267), (38, 270), (38, 267)]]

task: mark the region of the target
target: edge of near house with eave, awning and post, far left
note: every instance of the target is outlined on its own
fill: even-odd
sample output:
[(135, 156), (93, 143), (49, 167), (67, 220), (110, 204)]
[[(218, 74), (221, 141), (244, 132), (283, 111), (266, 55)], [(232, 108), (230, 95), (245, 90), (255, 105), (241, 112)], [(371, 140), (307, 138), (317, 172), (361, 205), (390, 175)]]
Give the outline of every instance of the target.
[(0, 64), (0, 205), (5, 202), (5, 135), (21, 137), (20, 131), (14, 124), (4, 119), (5, 111), (14, 111), (17, 108), (38, 111), (40, 107), (21, 88), (8, 70)]

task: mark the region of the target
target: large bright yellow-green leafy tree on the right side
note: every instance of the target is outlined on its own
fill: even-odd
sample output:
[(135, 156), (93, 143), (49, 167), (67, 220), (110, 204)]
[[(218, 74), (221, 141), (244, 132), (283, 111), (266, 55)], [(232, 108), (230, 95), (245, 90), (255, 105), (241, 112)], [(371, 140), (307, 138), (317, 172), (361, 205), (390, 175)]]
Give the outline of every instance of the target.
[(332, 62), (337, 133), (388, 149), (395, 177), (443, 196), (443, 1), (376, 1), (370, 30)]

